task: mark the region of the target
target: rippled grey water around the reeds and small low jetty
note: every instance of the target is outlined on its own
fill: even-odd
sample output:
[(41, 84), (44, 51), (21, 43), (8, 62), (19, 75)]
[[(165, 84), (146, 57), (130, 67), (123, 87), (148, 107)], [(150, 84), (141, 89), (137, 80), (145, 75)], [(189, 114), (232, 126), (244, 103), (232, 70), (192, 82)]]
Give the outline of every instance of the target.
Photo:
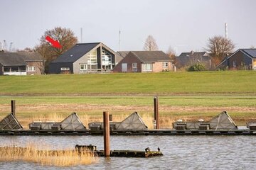
[[(97, 145), (103, 149), (103, 137), (0, 137), (0, 146), (28, 142), (68, 149), (75, 145)], [(0, 169), (256, 169), (254, 136), (111, 136), (111, 149), (151, 150), (161, 148), (163, 157), (100, 158), (97, 164), (58, 168), (25, 162), (0, 162)]]

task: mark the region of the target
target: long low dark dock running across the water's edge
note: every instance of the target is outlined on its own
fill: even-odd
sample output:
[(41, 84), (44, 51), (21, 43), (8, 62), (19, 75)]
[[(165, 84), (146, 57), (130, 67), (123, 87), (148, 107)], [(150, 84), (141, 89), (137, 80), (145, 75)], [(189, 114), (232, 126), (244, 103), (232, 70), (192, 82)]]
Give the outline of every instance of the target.
[[(103, 130), (0, 130), (0, 135), (103, 135)], [(256, 130), (110, 130), (110, 135), (256, 135)]]

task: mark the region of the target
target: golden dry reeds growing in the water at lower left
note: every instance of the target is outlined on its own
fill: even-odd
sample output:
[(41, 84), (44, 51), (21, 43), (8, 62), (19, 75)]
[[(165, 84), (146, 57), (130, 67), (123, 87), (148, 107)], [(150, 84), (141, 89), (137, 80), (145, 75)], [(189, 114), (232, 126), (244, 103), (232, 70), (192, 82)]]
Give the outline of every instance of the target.
[(38, 150), (34, 145), (27, 147), (0, 147), (0, 162), (33, 162), (42, 166), (75, 166), (97, 162), (92, 152), (68, 149), (50, 151)]

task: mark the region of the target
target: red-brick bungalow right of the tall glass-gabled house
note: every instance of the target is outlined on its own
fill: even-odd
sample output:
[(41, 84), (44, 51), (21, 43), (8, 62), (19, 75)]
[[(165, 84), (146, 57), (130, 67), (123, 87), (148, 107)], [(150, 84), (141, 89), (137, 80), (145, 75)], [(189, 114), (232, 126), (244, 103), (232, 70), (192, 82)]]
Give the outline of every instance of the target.
[(114, 67), (113, 72), (162, 72), (173, 69), (171, 58), (162, 51), (117, 53), (124, 58)]

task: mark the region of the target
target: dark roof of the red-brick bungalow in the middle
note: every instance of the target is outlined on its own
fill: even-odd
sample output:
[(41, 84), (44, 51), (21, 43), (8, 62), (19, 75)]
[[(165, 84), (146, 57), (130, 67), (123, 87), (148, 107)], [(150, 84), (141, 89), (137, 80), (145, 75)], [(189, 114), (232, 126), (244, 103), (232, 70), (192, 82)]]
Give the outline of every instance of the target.
[(131, 51), (142, 62), (171, 61), (171, 58), (162, 51)]

